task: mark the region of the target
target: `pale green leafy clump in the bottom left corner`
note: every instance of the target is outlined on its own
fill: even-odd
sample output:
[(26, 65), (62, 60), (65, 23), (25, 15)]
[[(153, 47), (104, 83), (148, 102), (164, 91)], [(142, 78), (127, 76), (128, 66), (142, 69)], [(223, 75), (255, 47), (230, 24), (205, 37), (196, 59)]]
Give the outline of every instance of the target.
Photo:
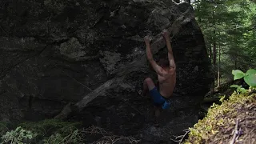
[(7, 131), (5, 135), (2, 136), (2, 142), (11, 143), (11, 144), (25, 144), (30, 143), (33, 138), (35, 138), (37, 134), (32, 133), (30, 130), (24, 130), (21, 126), (18, 126), (16, 130)]

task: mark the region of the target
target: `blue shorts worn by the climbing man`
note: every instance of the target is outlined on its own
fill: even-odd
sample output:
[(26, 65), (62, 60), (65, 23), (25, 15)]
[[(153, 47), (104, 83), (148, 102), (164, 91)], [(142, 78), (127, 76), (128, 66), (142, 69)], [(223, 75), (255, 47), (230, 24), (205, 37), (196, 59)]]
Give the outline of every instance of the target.
[(162, 109), (170, 108), (170, 101), (162, 97), (162, 95), (158, 92), (157, 87), (154, 87), (153, 90), (150, 90), (150, 95), (153, 98), (154, 106), (162, 106)]

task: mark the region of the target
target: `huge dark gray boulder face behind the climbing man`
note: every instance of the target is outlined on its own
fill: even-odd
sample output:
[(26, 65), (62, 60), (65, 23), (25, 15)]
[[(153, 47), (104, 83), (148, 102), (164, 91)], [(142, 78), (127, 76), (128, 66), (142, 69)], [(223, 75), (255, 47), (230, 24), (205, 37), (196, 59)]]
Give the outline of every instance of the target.
[[(162, 0), (20, 0), (0, 6), (0, 119), (64, 114), (141, 142), (170, 143), (197, 122), (212, 79), (193, 9)], [(151, 102), (138, 95), (146, 77), (143, 37), (153, 36), (156, 60), (167, 57), (161, 31), (171, 31), (177, 86), (161, 127), (152, 127)], [(67, 105), (69, 103), (69, 105)], [(70, 111), (69, 111), (70, 112)]]

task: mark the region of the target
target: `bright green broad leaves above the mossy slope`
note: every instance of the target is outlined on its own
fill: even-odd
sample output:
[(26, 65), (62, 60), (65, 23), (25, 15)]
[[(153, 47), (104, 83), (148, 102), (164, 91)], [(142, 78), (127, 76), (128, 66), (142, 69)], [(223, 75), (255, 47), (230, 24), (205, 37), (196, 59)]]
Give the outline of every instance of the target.
[(256, 70), (247, 70), (246, 74), (242, 70), (232, 70), (232, 74), (234, 75), (234, 80), (243, 78), (249, 86), (256, 87)]

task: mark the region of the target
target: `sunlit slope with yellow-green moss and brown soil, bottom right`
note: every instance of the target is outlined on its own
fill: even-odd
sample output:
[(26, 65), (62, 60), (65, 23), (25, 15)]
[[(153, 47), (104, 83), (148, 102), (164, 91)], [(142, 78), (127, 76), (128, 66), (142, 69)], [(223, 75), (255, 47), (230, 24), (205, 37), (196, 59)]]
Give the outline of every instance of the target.
[(256, 94), (234, 93), (221, 105), (210, 107), (206, 117), (190, 128), (185, 143), (229, 143), (234, 136), (238, 143), (255, 143), (255, 126)]

